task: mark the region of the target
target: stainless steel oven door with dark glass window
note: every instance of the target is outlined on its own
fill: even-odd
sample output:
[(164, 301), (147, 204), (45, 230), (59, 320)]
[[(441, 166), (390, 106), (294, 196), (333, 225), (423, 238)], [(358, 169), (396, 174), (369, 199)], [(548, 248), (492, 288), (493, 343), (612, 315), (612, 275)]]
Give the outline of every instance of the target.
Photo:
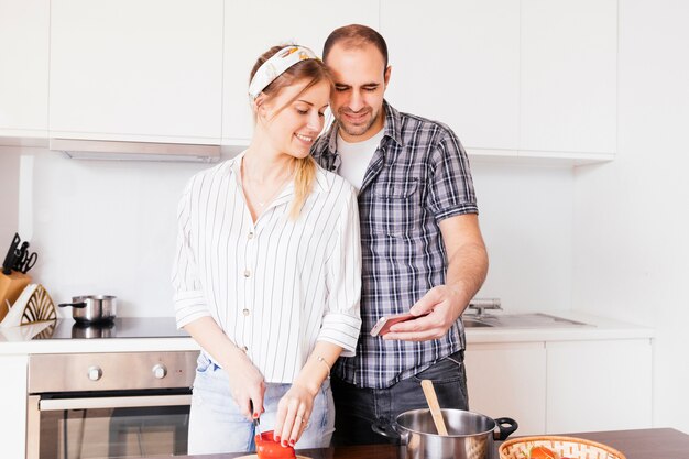
[(26, 459), (185, 455), (190, 390), (103, 396), (31, 395)]

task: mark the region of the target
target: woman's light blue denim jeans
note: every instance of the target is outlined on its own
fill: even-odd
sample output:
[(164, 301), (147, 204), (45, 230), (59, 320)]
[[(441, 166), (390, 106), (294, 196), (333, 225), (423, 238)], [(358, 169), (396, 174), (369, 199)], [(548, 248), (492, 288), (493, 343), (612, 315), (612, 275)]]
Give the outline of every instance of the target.
[[(261, 431), (275, 426), (277, 403), (291, 384), (266, 384), (261, 415)], [(335, 426), (335, 407), (330, 382), (326, 380), (314, 400), (314, 409), (296, 449), (325, 448), (330, 444)], [(189, 455), (251, 452), (255, 450), (254, 426), (239, 411), (230, 394), (228, 374), (201, 352), (189, 414)]]

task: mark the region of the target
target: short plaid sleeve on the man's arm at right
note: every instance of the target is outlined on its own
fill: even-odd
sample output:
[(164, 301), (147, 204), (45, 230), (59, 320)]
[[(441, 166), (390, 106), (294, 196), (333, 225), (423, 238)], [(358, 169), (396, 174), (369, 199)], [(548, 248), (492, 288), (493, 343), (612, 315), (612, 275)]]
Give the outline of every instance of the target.
[(457, 135), (449, 128), (442, 128), (430, 157), (433, 179), (429, 181), (428, 207), (436, 221), (479, 212), (467, 152)]

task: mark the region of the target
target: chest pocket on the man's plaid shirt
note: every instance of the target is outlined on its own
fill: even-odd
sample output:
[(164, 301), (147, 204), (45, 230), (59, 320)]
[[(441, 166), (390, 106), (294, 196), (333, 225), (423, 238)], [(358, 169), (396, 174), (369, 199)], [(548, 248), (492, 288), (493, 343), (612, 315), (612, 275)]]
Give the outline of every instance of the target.
[(381, 181), (373, 188), (370, 209), (373, 228), (390, 237), (407, 237), (419, 230), (422, 212), (418, 178)]

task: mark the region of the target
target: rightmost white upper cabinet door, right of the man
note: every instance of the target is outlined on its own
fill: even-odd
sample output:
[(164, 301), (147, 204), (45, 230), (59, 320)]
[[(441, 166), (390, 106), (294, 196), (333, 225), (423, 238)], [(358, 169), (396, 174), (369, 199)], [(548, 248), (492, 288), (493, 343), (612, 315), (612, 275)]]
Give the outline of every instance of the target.
[(521, 150), (614, 154), (616, 0), (523, 0)]

